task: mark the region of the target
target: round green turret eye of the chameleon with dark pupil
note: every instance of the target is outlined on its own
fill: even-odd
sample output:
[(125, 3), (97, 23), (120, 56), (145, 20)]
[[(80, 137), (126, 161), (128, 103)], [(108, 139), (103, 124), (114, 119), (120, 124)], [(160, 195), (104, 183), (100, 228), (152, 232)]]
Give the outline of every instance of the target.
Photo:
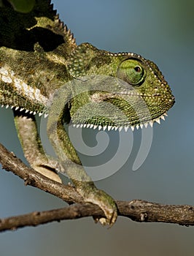
[(130, 83), (133, 86), (140, 86), (144, 81), (146, 73), (139, 61), (127, 59), (119, 65), (117, 69), (117, 78)]

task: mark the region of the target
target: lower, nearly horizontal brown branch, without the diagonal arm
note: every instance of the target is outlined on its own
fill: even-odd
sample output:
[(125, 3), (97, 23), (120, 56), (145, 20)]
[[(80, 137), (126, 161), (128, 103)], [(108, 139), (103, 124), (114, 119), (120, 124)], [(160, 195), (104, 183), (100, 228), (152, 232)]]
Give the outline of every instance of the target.
[[(128, 217), (136, 222), (167, 222), (179, 225), (194, 225), (192, 206), (168, 206), (143, 200), (131, 202), (117, 201), (118, 215)], [(0, 232), (16, 230), (18, 227), (37, 226), (63, 219), (80, 219), (83, 217), (104, 217), (98, 206), (85, 203), (74, 204), (66, 208), (51, 211), (35, 211), (17, 217), (0, 219)]]

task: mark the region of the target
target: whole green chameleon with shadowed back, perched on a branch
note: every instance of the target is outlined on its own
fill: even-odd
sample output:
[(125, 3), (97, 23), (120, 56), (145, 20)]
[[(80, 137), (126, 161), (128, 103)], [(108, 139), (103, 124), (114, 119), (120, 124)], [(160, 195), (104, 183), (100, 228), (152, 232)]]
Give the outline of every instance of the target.
[[(101, 222), (112, 225), (115, 202), (85, 173), (64, 123), (93, 129), (152, 126), (174, 105), (171, 89), (158, 67), (135, 53), (77, 45), (49, 0), (36, 0), (28, 13), (2, 3), (0, 104), (14, 111), (25, 157), (34, 170), (58, 182), (57, 172), (66, 172), (85, 202), (102, 208)], [(36, 113), (48, 115), (47, 135), (57, 159), (44, 154)]]

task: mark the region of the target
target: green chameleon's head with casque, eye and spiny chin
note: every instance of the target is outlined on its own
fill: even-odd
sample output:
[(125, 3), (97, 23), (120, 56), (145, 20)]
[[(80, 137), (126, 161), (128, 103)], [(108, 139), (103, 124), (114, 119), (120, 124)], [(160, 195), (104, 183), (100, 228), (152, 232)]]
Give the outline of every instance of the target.
[(143, 127), (164, 119), (174, 96), (158, 67), (134, 53), (109, 53), (89, 44), (74, 50), (69, 72), (85, 89), (71, 99), (73, 124), (86, 127)]

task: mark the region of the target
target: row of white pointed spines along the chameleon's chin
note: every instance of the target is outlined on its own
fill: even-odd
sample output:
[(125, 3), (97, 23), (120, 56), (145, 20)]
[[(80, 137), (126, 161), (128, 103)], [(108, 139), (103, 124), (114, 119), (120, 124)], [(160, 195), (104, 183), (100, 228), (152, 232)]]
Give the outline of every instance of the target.
[(147, 121), (145, 122), (144, 124), (136, 124), (136, 125), (133, 125), (133, 126), (120, 126), (120, 127), (117, 127), (117, 126), (111, 126), (111, 125), (105, 125), (105, 126), (101, 126), (101, 125), (95, 125), (95, 124), (73, 124), (73, 127), (75, 128), (90, 128), (90, 129), (98, 129), (98, 131), (100, 130), (115, 130), (115, 131), (121, 131), (121, 130), (125, 130), (125, 132), (128, 131), (128, 129), (130, 128), (132, 131), (134, 131), (134, 129), (139, 129), (139, 128), (147, 128), (148, 125), (150, 125), (150, 127), (153, 127), (153, 124), (156, 122), (158, 124), (160, 124), (160, 120), (163, 120), (165, 121), (165, 116), (168, 116), (167, 113), (163, 113), (163, 115), (159, 116), (158, 118), (155, 118), (151, 121)]

